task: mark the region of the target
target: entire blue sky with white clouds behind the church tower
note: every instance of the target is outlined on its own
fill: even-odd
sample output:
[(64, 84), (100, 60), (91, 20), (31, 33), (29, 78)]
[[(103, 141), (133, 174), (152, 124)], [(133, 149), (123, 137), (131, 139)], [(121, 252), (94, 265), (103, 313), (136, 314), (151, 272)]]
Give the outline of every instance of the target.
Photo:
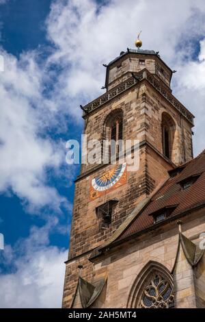
[[(78, 166), (81, 109), (103, 93), (105, 68), (142, 30), (174, 74), (205, 147), (204, 0), (0, 0), (0, 307), (61, 306)], [(1, 60), (0, 60), (1, 62)], [(1, 66), (2, 67), (2, 66)]]

